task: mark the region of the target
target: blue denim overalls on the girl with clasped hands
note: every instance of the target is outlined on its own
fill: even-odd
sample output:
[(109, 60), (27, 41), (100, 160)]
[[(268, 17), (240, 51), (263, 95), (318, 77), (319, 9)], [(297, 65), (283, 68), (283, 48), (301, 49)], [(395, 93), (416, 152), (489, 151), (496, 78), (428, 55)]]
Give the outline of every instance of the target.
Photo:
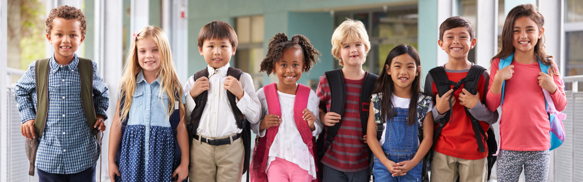
[[(381, 148), (389, 160), (399, 163), (412, 160), (415, 157), (415, 153), (419, 149), (419, 138), (417, 136), (417, 127), (419, 126), (416, 123), (408, 124), (408, 108), (396, 107), (394, 109), (397, 115), (387, 121), (385, 141), (381, 143)], [(419, 162), (405, 176), (392, 177), (387, 167), (375, 156), (373, 175), (376, 182), (421, 181), (422, 165), (423, 162)]]

